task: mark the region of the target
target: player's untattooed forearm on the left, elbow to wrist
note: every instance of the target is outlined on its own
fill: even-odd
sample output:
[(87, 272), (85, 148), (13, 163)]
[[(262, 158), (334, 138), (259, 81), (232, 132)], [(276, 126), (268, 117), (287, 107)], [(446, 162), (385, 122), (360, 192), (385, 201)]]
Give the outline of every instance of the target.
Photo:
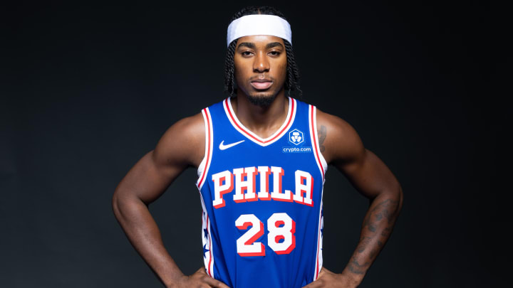
[(137, 198), (113, 198), (113, 210), (125, 234), (162, 284), (172, 287), (184, 274), (169, 255), (160, 230), (145, 203)]

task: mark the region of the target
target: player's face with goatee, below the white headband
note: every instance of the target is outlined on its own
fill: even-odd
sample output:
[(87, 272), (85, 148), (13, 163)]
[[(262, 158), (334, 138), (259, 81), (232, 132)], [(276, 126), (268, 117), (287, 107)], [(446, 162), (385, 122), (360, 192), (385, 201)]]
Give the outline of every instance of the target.
[(286, 79), (286, 50), (276, 36), (244, 36), (237, 40), (234, 53), (238, 94), (260, 106), (271, 104), (283, 92)]

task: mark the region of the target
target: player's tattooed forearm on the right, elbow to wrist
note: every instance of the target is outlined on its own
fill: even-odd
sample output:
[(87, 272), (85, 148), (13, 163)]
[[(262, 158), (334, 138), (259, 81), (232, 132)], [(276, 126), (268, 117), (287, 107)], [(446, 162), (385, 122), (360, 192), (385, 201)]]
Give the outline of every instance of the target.
[(343, 274), (359, 284), (392, 233), (403, 193), (382, 193), (371, 202), (363, 220), (360, 241)]

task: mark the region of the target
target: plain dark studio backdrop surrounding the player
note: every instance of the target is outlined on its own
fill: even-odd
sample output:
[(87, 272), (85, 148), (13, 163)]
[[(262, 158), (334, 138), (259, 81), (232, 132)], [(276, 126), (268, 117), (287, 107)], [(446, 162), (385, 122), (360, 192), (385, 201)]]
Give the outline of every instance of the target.
[[(226, 97), (226, 28), (248, 4), (2, 4), (0, 287), (161, 287), (111, 197), (167, 127)], [(353, 125), (403, 186), (361, 287), (498, 286), (509, 115), (489, 4), (264, 4), (291, 23), (301, 100)], [(196, 177), (150, 205), (185, 274), (203, 265)], [(341, 272), (368, 201), (333, 167), (323, 195), (324, 266)]]

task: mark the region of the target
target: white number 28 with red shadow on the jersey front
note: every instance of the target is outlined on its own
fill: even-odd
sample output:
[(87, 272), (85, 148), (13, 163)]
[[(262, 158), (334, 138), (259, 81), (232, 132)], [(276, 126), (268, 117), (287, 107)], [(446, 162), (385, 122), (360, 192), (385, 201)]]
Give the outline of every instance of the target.
[[(249, 225), (251, 229), (247, 230)], [(283, 225), (283, 226), (281, 226)], [(264, 256), (265, 247), (262, 242), (255, 242), (264, 235), (264, 223), (254, 214), (242, 214), (235, 220), (239, 230), (247, 230), (237, 239), (237, 254), (243, 257)], [(267, 245), (276, 254), (289, 254), (296, 247), (296, 222), (287, 213), (274, 213), (267, 219)], [(279, 242), (283, 240), (283, 242)]]

